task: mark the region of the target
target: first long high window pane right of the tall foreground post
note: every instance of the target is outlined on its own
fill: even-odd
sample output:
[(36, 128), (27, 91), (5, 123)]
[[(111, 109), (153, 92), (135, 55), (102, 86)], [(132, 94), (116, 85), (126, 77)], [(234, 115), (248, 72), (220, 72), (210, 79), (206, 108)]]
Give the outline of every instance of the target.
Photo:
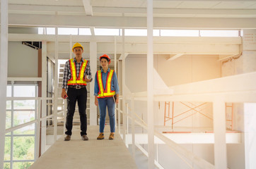
[(161, 30), (163, 37), (199, 37), (199, 30)]

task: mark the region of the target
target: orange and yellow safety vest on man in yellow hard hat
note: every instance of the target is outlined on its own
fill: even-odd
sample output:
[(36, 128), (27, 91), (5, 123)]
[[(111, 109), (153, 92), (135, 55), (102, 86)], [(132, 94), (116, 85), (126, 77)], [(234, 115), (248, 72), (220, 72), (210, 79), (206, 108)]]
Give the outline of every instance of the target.
[(76, 64), (74, 63), (74, 59), (71, 58), (69, 59), (69, 67), (71, 71), (71, 79), (68, 80), (68, 85), (84, 85), (86, 86), (86, 80), (84, 80), (84, 71), (86, 70), (86, 65), (88, 61), (86, 59), (83, 59), (83, 63), (81, 64), (80, 67), (80, 72), (78, 75), (78, 78), (76, 77)]

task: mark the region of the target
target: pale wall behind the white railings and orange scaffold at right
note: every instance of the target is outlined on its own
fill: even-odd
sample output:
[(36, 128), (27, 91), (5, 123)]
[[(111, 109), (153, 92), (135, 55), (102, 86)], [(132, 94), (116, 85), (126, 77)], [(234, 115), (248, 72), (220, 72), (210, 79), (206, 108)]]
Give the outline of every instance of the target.
[[(218, 61), (219, 56), (192, 56), (186, 55), (167, 61), (168, 55), (155, 55), (154, 68), (158, 71), (165, 84), (168, 86), (185, 84), (189, 82), (197, 82), (201, 80), (209, 80), (221, 77), (221, 68)], [(126, 84), (131, 92), (146, 91), (146, 55), (129, 55), (126, 59)], [(193, 103), (202, 104), (202, 103)], [(191, 104), (188, 104), (192, 106)], [(154, 124), (163, 126), (164, 117), (164, 102), (154, 102)], [(135, 111), (146, 121), (146, 101), (135, 101)], [(170, 113), (172, 103), (170, 102)], [(179, 102), (175, 102), (175, 115), (188, 110), (186, 106), (182, 106)], [(202, 107), (202, 112), (212, 115), (212, 104)], [(180, 120), (184, 116), (177, 118)], [(171, 131), (170, 121), (166, 123), (169, 126), (167, 129), (158, 128), (159, 132)], [(176, 128), (175, 128), (176, 127)], [(203, 115), (194, 115), (180, 123), (175, 124), (175, 131), (192, 131), (197, 132), (197, 127), (212, 128), (212, 120), (205, 118)], [(183, 127), (183, 128), (182, 128)], [(212, 130), (211, 130), (212, 131)], [(146, 132), (146, 131), (145, 131)], [(189, 144), (183, 145), (190, 149), (210, 163), (214, 163), (214, 146), (212, 144)], [(145, 145), (146, 147), (146, 145)], [(165, 145), (158, 147), (159, 162), (165, 168), (188, 168), (184, 162), (173, 151)]]

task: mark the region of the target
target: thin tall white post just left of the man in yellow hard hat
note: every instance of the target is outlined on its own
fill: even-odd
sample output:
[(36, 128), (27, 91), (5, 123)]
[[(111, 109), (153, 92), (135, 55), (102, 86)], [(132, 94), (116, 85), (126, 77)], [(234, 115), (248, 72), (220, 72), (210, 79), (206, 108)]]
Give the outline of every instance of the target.
[(58, 63), (59, 63), (58, 27), (55, 27), (55, 68), (54, 68), (54, 142), (57, 140), (57, 116), (58, 116)]

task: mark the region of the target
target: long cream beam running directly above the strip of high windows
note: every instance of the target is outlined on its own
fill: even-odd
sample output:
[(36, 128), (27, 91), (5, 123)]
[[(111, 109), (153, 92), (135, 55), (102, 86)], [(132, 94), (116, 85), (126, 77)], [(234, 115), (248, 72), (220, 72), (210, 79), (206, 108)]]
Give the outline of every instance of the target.
[[(145, 28), (145, 17), (9, 14), (9, 25), (40, 27), (136, 27)], [(154, 28), (255, 29), (256, 18), (160, 18)]]

